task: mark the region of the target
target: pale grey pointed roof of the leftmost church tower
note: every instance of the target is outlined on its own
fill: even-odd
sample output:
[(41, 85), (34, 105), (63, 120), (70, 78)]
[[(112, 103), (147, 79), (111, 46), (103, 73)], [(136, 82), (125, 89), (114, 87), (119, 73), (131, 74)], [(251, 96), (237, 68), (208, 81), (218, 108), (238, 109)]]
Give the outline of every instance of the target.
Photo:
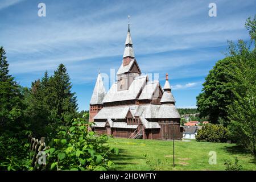
[(90, 105), (102, 104), (102, 100), (104, 99), (105, 95), (106, 90), (104, 88), (101, 73), (99, 71), (92, 98), (90, 98)]

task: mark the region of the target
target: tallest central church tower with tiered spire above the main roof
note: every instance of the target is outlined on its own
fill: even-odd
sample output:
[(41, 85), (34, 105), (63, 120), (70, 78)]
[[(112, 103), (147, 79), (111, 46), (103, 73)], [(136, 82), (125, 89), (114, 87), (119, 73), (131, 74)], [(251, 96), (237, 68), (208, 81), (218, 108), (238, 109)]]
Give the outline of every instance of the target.
[(117, 71), (117, 90), (128, 90), (131, 82), (139, 75), (141, 75), (141, 69), (139, 69), (139, 65), (134, 56), (129, 23), (125, 40), (125, 51), (123, 52), (123, 61)]

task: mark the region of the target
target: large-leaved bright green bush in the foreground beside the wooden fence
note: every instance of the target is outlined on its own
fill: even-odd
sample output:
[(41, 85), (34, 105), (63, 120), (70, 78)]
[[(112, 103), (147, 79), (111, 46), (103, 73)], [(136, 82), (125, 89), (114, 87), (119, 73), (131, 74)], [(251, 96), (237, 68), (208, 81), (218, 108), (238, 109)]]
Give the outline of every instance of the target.
[(57, 135), (46, 150), (47, 170), (111, 170), (114, 163), (109, 154), (118, 155), (118, 148), (106, 145), (108, 137), (96, 137), (88, 131), (91, 123), (84, 119), (73, 119), (71, 126), (60, 126)]

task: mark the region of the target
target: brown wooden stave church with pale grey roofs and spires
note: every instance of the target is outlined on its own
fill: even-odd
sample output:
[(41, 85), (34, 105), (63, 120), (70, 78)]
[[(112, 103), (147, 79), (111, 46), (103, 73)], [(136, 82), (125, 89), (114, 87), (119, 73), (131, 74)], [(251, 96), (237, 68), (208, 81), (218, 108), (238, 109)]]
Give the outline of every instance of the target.
[(98, 134), (121, 138), (181, 139), (180, 114), (166, 73), (164, 88), (158, 80), (141, 75), (131, 41), (130, 25), (117, 82), (105, 92), (100, 73), (90, 100), (89, 122)]

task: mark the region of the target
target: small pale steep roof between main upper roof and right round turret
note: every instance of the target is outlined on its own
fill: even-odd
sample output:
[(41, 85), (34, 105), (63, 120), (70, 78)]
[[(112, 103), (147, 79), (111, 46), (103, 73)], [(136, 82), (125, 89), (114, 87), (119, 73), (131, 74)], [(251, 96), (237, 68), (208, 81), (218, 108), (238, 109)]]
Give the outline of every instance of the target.
[(156, 98), (158, 98), (158, 96), (155, 95), (154, 93), (157, 92), (157, 94), (158, 94), (159, 93), (158, 91), (159, 91), (159, 81), (158, 80), (147, 82), (147, 84), (144, 86), (144, 88), (141, 92), (141, 95), (139, 96), (139, 100), (156, 99)]

